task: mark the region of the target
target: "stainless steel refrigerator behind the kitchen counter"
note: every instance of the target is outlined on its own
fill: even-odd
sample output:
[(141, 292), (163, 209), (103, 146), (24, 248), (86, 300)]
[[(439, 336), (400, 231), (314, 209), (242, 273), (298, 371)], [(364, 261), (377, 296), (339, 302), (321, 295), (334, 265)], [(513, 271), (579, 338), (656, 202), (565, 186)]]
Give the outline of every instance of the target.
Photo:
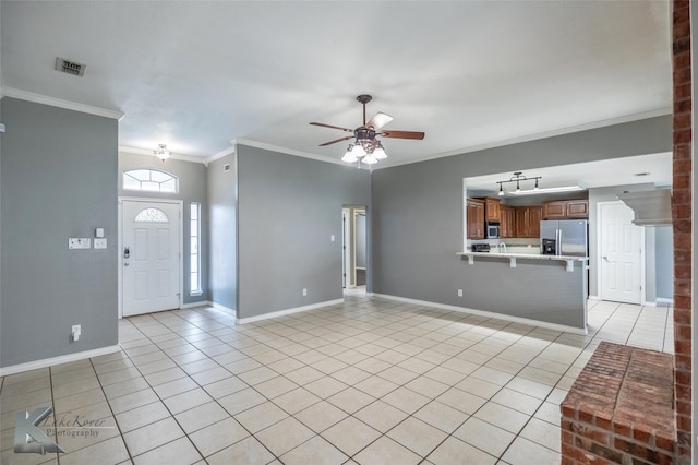
[(544, 255), (588, 257), (586, 219), (544, 219), (541, 222), (541, 253)]

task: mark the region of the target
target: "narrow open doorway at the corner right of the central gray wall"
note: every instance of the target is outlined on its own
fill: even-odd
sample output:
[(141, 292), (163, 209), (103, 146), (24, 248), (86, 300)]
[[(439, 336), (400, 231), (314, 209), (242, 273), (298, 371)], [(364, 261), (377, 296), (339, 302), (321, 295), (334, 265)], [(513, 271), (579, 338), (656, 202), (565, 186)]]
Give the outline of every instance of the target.
[(366, 207), (345, 206), (341, 210), (342, 288), (363, 290), (366, 286)]

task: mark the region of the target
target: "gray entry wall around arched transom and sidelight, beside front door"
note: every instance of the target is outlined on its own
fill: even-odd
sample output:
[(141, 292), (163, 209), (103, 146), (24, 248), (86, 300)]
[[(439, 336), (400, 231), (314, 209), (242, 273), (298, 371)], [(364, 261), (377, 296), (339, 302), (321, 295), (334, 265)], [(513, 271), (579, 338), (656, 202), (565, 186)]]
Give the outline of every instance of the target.
[[(123, 171), (136, 168), (156, 168), (168, 171), (179, 177), (179, 193), (169, 194), (160, 192), (129, 191), (123, 190)], [(119, 153), (119, 195), (134, 198), (153, 198), (166, 200), (182, 200), (183, 204), (183, 270), (184, 270), (184, 303), (193, 303), (208, 300), (208, 202), (206, 191), (206, 166), (202, 163), (191, 163), (169, 158), (160, 162), (154, 155), (136, 155), (132, 153)], [(189, 274), (191, 272), (191, 245), (189, 241), (189, 225), (191, 220), (190, 205), (192, 202), (201, 203), (201, 296), (191, 296), (191, 283)]]

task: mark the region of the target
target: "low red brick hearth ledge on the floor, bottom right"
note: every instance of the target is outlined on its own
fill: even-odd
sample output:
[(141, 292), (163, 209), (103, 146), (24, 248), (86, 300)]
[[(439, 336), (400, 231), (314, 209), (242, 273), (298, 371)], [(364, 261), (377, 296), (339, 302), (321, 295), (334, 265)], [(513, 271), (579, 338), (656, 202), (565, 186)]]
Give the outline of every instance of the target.
[(601, 343), (561, 404), (562, 463), (674, 463), (673, 361)]

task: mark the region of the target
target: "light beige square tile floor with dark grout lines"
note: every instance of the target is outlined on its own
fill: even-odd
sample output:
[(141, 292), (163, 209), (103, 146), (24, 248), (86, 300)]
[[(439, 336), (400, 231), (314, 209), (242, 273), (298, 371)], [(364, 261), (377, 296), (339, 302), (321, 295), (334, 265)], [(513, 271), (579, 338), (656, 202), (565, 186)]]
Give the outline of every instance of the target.
[[(587, 336), (365, 296), (244, 325), (124, 319), (120, 353), (0, 379), (0, 462), (558, 464), (559, 403), (594, 347), (673, 348), (671, 308), (588, 314)], [(65, 453), (15, 454), (16, 413), (49, 405)]]

